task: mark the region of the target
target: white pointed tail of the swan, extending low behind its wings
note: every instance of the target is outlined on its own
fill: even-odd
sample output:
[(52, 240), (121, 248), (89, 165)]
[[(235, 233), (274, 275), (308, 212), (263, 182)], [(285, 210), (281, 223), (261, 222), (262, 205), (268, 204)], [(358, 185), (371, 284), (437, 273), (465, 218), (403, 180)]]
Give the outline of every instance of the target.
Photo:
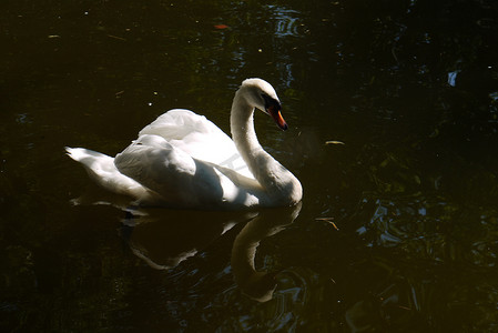
[(65, 151), (71, 159), (83, 164), (91, 179), (108, 191), (130, 195), (141, 202), (157, 200), (155, 193), (122, 174), (115, 168), (113, 158), (84, 148), (65, 147)]

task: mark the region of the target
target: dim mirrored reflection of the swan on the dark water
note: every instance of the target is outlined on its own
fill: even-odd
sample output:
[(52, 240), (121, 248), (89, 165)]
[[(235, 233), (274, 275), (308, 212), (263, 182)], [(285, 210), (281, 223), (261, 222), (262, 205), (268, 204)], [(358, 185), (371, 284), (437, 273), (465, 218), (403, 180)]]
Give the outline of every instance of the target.
[(299, 203), (293, 208), (254, 212), (161, 210), (161, 218), (156, 211), (152, 211), (152, 214), (139, 219), (125, 219), (122, 235), (133, 253), (151, 268), (169, 270), (206, 249), (234, 225), (246, 222), (233, 241), (230, 260), (232, 274), (245, 295), (266, 302), (276, 289), (278, 271), (257, 271), (256, 249), (263, 239), (293, 223), (301, 206)]

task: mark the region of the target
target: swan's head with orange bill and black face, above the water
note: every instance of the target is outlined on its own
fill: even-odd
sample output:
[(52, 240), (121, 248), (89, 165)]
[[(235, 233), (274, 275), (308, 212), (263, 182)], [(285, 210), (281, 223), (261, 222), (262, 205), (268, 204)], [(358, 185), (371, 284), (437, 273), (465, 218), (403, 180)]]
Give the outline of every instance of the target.
[(272, 84), (262, 79), (247, 79), (242, 82), (238, 91), (253, 108), (271, 115), (278, 128), (284, 131), (288, 128), (281, 113), (281, 101)]

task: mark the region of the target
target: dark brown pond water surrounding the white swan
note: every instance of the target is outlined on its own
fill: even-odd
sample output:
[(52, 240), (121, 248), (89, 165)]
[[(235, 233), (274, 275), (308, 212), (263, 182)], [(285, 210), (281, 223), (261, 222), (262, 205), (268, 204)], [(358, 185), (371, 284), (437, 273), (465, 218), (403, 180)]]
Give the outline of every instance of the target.
[[(1, 331), (498, 331), (496, 1), (0, 12)], [(248, 77), (284, 103), (287, 132), (262, 114), (256, 129), (303, 183), (301, 211), (71, 203), (129, 204), (64, 145), (113, 155), (172, 108), (227, 131)], [(257, 244), (266, 302), (237, 262)]]

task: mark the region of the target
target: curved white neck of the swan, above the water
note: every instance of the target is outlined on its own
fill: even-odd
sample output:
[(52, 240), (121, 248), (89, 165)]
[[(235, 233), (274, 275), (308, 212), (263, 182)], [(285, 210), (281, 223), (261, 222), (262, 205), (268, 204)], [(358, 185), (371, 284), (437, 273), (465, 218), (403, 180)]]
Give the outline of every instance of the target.
[(254, 107), (235, 93), (230, 117), (233, 141), (250, 171), (267, 194), (268, 204), (293, 205), (301, 201), (299, 181), (261, 147), (254, 130)]

